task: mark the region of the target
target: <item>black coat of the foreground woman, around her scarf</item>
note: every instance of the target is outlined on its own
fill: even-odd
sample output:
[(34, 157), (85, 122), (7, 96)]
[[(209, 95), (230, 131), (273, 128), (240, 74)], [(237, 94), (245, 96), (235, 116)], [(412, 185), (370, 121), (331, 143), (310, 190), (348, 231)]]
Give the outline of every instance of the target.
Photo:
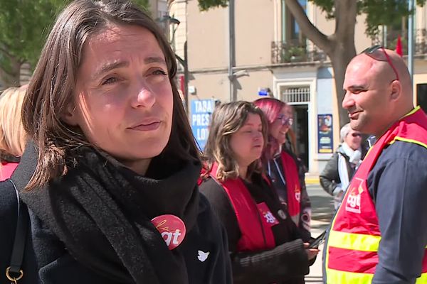
[[(27, 147), (27, 149), (28, 148), (30, 147)], [(26, 195), (28, 197), (28, 194), (30, 193), (38, 193), (25, 192), (23, 188), (21, 188), (26, 185), (29, 179), (28, 177), (31, 177), (33, 173), (34, 167), (31, 165), (34, 164), (33, 162), (36, 156), (37, 155), (31, 153), (31, 151), (27, 152), (26, 150), (26, 153), (24, 153), (23, 158), (21, 159), (19, 168), (12, 176), (12, 179), (16, 182), (16, 186), (21, 192), (20, 194), (24, 200), (24, 197)], [(100, 168), (105, 168), (106, 166), (105, 163), (96, 163), (96, 165), (98, 164)], [(162, 170), (162, 173), (165, 172), (165, 169), (160, 168), (160, 166), (155, 166), (156, 163), (154, 163), (154, 161), (152, 161), (151, 164), (153, 165), (153, 167), (151, 165), (150, 167), (152, 167), (153, 169)], [(182, 173), (184, 173), (185, 176), (186, 174), (194, 175), (193, 172), (194, 167), (191, 168), (191, 172), (184, 171)], [(196, 177), (198, 176), (198, 174), (199, 170), (197, 169)], [(68, 172), (67, 176), (70, 175), (70, 172)], [(182, 184), (185, 184), (184, 180), (182, 181)], [(61, 185), (64, 186), (65, 183), (62, 183)], [(147, 188), (144, 188), (144, 190), (147, 190), (147, 192), (152, 192), (152, 195), (150, 195), (150, 197), (157, 197), (157, 195), (159, 194), (159, 188), (148, 186), (149, 185), (147, 185)], [(179, 187), (179, 185), (168, 184), (167, 186), (165, 185), (165, 187), (167, 189), (176, 189)], [(58, 190), (53, 192), (56, 192), (57, 195), (61, 195), (60, 190), (62, 190), (62, 192), (67, 192), (66, 188), (67, 187), (53, 188), (53, 190)], [(52, 188), (49, 189), (52, 190)], [(33, 190), (38, 190), (38, 188)], [(51, 192), (49, 195), (54, 195), (53, 192)], [(62, 193), (62, 195), (65, 195), (65, 193)], [(149, 195), (149, 193), (147, 193), (147, 195)], [(162, 200), (167, 200), (167, 202), (176, 202), (176, 200), (170, 200), (167, 198), (164, 198)], [(94, 201), (92, 200), (91, 203), (93, 202)], [(116, 265), (115, 263), (111, 264), (111, 262), (107, 261), (106, 263), (102, 263), (102, 268), (104, 268), (103, 270), (97, 270), (90, 267), (90, 264), (92, 263), (86, 263), (84, 261), (81, 261), (81, 252), (80, 255), (76, 256), (73, 253), (74, 251), (72, 251), (71, 249), (67, 249), (65, 243), (62, 241), (63, 239), (60, 239), (58, 234), (53, 233), (54, 231), (58, 231), (58, 227), (48, 227), (48, 223), (45, 222), (44, 219), (42, 221), (40, 215), (36, 214), (37, 211), (40, 211), (40, 208), (32, 207), (33, 205), (30, 206), (29, 204), (28, 206), (33, 208), (33, 210), (28, 209), (30, 222), (28, 224), (28, 234), (26, 236), (26, 247), (24, 250), (23, 257), (24, 274), (23, 278), (19, 280), (19, 284), (123, 283), (123, 280), (117, 280), (120, 278), (112, 278), (115, 277), (116, 270), (124, 269), (124, 267), (117, 268), (118, 265)], [(127, 204), (125, 206), (130, 207), (130, 204)], [(144, 209), (150, 206), (153, 207), (150, 204), (144, 204)], [(214, 212), (210, 207), (209, 202), (206, 200), (205, 197), (199, 195), (199, 198), (194, 202), (194, 207), (191, 208), (194, 208), (191, 209), (191, 214), (193, 214), (191, 216), (194, 216), (194, 224), (191, 224), (191, 226), (187, 227), (184, 241), (182, 241), (179, 247), (174, 249), (174, 251), (168, 251), (167, 248), (165, 249), (164, 247), (154, 246), (154, 243), (152, 243), (152, 241), (156, 241), (155, 244), (157, 244), (157, 241), (160, 241), (159, 244), (163, 245), (163, 240), (161, 236), (157, 236), (155, 240), (147, 239), (144, 237), (143, 240), (145, 241), (145, 244), (147, 245), (147, 247), (152, 249), (155, 258), (159, 259), (160, 261), (162, 261), (162, 258), (165, 258), (164, 263), (170, 263), (169, 260), (171, 258), (167, 257), (170, 257), (171, 254), (179, 254), (180, 261), (182, 260), (182, 262), (184, 263), (185, 271), (185, 275), (183, 276), (185, 277), (185, 279), (181, 279), (181, 281), (179, 281), (181, 283), (232, 283), (231, 265), (228, 257), (228, 245), (225, 230), (218, 222), (218, 219), (216, 218)], [(65, 207), (65, 209), (70, 210), (70, 206), (68, 205), (67, 207)], [(110, 209), (110, 212), (105, 212), (105, 214), (111, 214), (111, 211), (112, 209)], [(59, 219), (59, 215), (56, 215), (56, 211), (52, 212), (53, 214), (51, 215), (51, 218)], [(0, 283), (11, 283), (10, 280), (7, 280), (5, 271), (10, 264), (12, 244), (14, 242), (16, 231), (17, 215), (18, 203), (16, 200), (16, 192), (12, 183), (9, 181), (0, 182)], [(75, 217), (75, 222), (80, 222), (78, 217)], [(142, 220), (140, 221), (140, 223), (142, 223)], [(62, 224), (58, 222), (58, 226), (61, 225)], [(73, 229), (73, 226), (68, 226), (65, 228)], [(111, 229), (117, 230), (116, 228)], [(93, 232), (93, 230), (88, 230), (88, 232)], [(86, 246), (83, 246), (83, 244), (78, 244), (78, 246), (82, 248), (93, 247), (94, 249), (95, 247), (99, 249), (100, 244), (108, 246), (105, 247), (104, 251), (107, 251), (108, 249), (110, 249), (110, 246), (112, 246), (112, 244), (105, 244), (105, 242), (102, 242), (102, 239), (95, 239), (92, 236), (93, 235), (90, 235), (88, 236), (88, 238), (86, 238), (86, 240), (90, 241), (89, 246), (88, 244), (85, 244)], [(119, 236), (119, 238), (120, 237), (122, 238), (122, 240), (128, 239), (125, 235)], [(132, 244), (127, 244), (127, 247), (129, 249), (132, 249), (133, 247), (137, 249), (138, 246), (140, 246), (139, 243), (134, 242), (132, 242)], [(86, 250), (88, 249), (85, 249), (85, 251)], [(85, 253), (85, 251), (83, 251), (83, 253)], [(104, 251), (101, 251), (100, 254), (102, 254)], [(207, 252), (209, 252), (208, 258), (199, 258), (199, 255), (201, 253)], [(88, 253), (90, 253), (90, 249)], [(99, 258), (108, 259), (105, 258), (105, 256), (103, 255), (98, 256)], [(142, 265), (142, 267), (149, 267), (149, 265), (152, 265), (152, 263), (149, 263), (149, 261), (152, 261), (152, 259), (148, 258), (147, 263), (144, 263), (144, 261), (140, 261), (139, 264)], [(105, 266), (105, 264), (107, 264), (107, 266)], [(105, 271), (105, 267), (108, 267), (109, 269)], [(115, 270), (112, 271), (110, 267)], [(164, 273), (165, 275), (174, 275), (172, 273), (173, 271), (169, 271), (168, 273), (168, 267), (169, 266), (164, 266), (164, 268), (166, 269), (163, 269), (161, 273)], [(159, 266), (155, 268), (159, 269)], [(147, 271), (148, 269), (149, 268), (147, 268)], [(142, 280), (144, 280), (144, 278), (142, 278)], [(127, 281), (126, 283), (131, 283), (131, 281)], [(149, 280), (147, 280), (147, 283), (149, 283)], [(165, 281), (162, 281), (160, 283), (165, 283)]]

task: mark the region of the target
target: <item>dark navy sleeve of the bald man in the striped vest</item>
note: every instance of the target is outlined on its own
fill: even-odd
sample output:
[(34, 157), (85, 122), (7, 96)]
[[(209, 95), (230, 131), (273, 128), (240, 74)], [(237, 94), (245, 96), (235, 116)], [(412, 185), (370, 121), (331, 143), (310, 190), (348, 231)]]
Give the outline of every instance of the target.
[(396, 141), (367, 180), (381, 231), (372, 284), (415, 283), (427, 246), (427, 148)]

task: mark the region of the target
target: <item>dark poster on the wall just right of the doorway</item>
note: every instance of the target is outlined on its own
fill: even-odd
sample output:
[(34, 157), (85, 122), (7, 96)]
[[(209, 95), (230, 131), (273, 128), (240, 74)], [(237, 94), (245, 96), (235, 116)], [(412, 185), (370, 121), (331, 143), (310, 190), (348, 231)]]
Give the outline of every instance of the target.
[(334, 153), (332, 114), (317, 115), (317, 149), (319, 153)]

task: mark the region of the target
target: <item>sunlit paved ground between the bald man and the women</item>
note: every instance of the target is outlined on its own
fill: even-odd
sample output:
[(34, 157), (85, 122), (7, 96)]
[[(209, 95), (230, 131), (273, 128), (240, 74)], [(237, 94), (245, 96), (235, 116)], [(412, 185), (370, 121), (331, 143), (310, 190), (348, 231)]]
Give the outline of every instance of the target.
[[(312, 202), (312, 236), (315, 238), (330, 224), (334, 203), (332, 197), (318, 184), (307, 185), (307, 192)], [(310, 274), (305, 276), (305, 283), (322, 283), (322, 249), (323, 245), (320, 246), (315, 264), (310, 267)]]

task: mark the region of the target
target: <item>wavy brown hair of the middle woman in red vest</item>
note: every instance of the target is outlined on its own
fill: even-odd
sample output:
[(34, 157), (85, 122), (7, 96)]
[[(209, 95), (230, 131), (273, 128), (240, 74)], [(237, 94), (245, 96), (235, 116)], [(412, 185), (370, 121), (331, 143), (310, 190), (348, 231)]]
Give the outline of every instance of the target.
[[(245, 124), (248, 114), (258, 114), (260, 116), (265, 141), (265, 138), (267, 138), (267, 121), (263, 111), (252, 103), (239, 101), (221, 104), (216, 107), (214, 114), (212, 114), (204, 160), (208, 173), (212, 168), (212, 164), (218, 163), (218, 173), (216, 173), (218, 180), (238, 178), (238, 164), (231, 150), (230, 139), (231, 135)], [(262, 170), (260, 160), (255, 160), (248, 166), (247, 176), (250, 177), (253, 173), (260, 173)]]

